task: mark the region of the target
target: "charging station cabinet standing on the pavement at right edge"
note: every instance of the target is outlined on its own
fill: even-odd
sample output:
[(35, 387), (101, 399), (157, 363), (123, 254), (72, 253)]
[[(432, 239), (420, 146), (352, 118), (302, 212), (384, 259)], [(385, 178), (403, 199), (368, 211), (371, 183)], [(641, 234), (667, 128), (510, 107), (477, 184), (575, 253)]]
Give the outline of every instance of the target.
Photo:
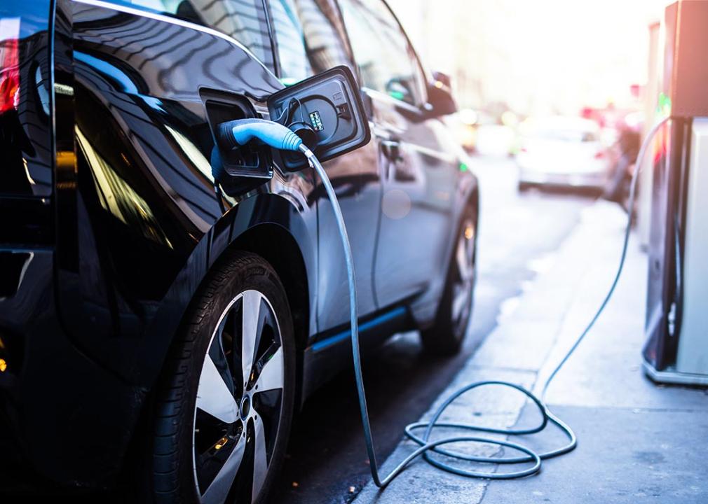
[(644, 370), (708, 385), (708, 0), (680, 0), (663, 24), (662, 99), (671, 121), (653, 156)]

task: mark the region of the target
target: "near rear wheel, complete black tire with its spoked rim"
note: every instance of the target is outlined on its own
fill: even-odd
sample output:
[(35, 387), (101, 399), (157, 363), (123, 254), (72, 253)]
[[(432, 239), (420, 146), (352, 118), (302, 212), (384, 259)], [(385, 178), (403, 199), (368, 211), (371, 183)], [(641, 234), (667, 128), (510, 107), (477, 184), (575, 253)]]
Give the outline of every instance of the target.
[(285, 289), (261, 257), (227, 252), (191, 303), (156, 390), (147, 500), (265, 502), (294, 397)]

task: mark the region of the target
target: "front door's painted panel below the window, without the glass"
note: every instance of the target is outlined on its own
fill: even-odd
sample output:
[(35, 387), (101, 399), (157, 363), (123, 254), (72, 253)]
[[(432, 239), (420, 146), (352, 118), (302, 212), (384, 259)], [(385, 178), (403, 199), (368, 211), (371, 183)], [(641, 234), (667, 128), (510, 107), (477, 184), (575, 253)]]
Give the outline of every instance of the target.
[[(424, 293), (437, 299), (455, 227), (459, 158), (450, 148), (452, 136), (439, 119), (410, 121), (401, 113), (410, 105), (375, 91), (367, 93), (372, 97), (379, 148), (394, 145), (397, 151), (382, 156), (384, 193), (374, 269), (377, 299), (384, 306)], [(420, 113), (409, 111), (416, 112)], [(423, 321), (430, 318), (416, 315)]]

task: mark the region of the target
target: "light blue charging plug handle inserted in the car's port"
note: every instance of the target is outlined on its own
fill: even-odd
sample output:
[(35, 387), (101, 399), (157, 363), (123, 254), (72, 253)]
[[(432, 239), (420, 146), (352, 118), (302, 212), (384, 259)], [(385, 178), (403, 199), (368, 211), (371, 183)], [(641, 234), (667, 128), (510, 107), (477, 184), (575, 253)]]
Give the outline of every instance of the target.
[(280, 151), (297, 151), (302, 139), (287, 127), (267, 119), (236, 119), (217, 128), (219, 146), (228, 150), (258, 139)]

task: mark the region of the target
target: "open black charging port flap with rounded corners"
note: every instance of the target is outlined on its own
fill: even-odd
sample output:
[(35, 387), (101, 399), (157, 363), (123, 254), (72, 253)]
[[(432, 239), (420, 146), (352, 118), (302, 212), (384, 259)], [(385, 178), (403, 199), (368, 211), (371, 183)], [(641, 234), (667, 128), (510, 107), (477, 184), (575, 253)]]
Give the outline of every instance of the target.
[[(335, 66), (282, 89), (268, 98), (270, 119), (289, 127), (326, 161), (371, 139), (369, 121), (352, 71)], [(307, 160), (297, 152), (273, 152), (288, 171), (307, 168)]]

